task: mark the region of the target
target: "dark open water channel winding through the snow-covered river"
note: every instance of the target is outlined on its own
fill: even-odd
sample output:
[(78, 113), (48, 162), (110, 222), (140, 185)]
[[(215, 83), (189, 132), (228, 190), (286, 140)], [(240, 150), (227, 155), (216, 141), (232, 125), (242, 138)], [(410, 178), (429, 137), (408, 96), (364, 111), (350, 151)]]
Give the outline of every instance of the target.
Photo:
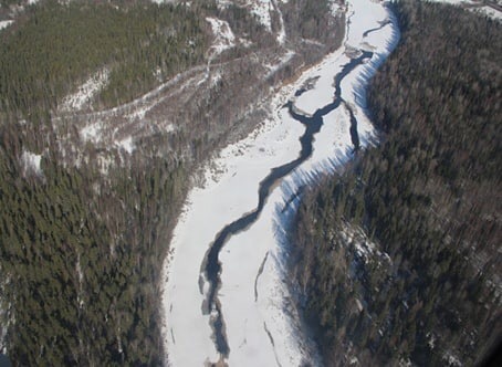
[[(230, 353), (229, 344), (227, 340), (227, 336), (224, 333), (224, 322), (223, 315), (221, 313), (221, 306), (218, 301), (217, 292), (220, 286), (220, 273), (221, 273), (221, 263), (219, 262), (219, 254), (221, 249), (223, 248), (224, 243), (236, 233), (239, 233), (245, 229), (248, 229), (251, 224), (253, 224), (257, 219), (259, 218), (263, 207), (266, 203), (266, 199), (269, 198), (270, 192), (272, 191), (273, 187), (278, 184), (280, 179), (289, 175), (293, 169), (299, 167), (302, 162), (304, 162), (313, 151), (313, 138), (314, 135), (321, 130), (323, 126), (323, 117), (342, 104), (342, 91), (341, 91), (341, 83), (343, 78), (348, 75), (356, 66), (363, 63), (364, 60), (370, 59), (373, 56), (372, 52), (363, 51), (362, 54), (353, 59), (351, 62), (344, 65), (342, 71), (335, 77), (335, 95), (333, 103), (317, 109), (313, 116), (304, 116), (295, 111), (293, 103), (290, 101), (287, 104), (283, 106), (283, 108), (287, 108), (290, 115), (302, 125), (305, 126), (305, 133), (300, 138), (301, 143), (301, 151), (299, 158), (273, 168), (269, 176), (266, 176), (261, 182), (260, 188), (258, 191), (258, 207), (244, 214), (243, 217), (237, 219), (236, 221), (231, 222), (227, 227), (224, 227), (216, 237), (215, 241), (210, 245), (209, 251), (206, 253), (205, 261), (201, 265), (201, 277), (202, 274), (205, 275), (206, 281), (209, 282), (209, 291), (207, 292), (207, 298), (205, 300), (205, 304), (202, 305), (202, 310), (205, 313), (211, 313), (211, 326), (215, 333), (216, 339), (216, 347), (219, 354), (222, 356), (228, 356)], [(351, 116), (353, 117), (353, 115)], [(355, 118), (355, 117), (354, 117)], [(351, 129), (351, 136), (353, 139), (354, 148), (358, 146), (358, 137), (357, 130)], [(200, 291), (202, 293), (203, 281), (200, 281)]]

